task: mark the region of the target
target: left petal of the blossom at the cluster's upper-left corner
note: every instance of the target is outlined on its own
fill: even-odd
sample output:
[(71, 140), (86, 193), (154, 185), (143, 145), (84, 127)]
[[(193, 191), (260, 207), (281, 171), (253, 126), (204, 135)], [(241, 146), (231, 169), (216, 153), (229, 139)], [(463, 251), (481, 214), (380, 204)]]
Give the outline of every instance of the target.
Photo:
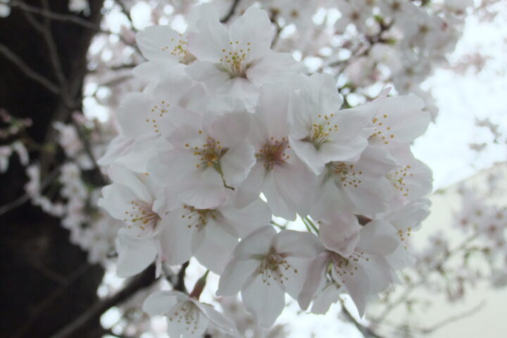
[(174, 48), (180, 39), (180, 33), (168, 26), (158, 25), (146, 27), (136, 35), (137, 46), (148, 60), (162, 58), (178, 62)]

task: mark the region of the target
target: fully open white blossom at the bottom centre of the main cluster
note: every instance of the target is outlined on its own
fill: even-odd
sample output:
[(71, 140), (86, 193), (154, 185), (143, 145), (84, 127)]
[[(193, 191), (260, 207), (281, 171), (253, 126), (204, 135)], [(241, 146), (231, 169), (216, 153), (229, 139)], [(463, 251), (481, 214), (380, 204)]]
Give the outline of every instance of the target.
[(308, 232), (261, 227), (238, 244), (220, 277), (218, 295), (241, 289), (244, 307), (258, 325), (270, 327), (284, 308), (284, 294), (297, 296), (310, 258), (322, 250)]

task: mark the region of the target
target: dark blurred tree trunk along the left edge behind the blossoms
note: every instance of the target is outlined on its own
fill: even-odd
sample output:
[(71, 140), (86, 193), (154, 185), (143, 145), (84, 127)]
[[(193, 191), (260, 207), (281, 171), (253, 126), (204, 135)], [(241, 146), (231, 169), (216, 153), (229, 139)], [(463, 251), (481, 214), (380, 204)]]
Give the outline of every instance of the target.
[[(42, 1), (27, 1), (42, 8)], [(90, 0), (91, 14), (82, 17), (98, 25), (102, 0)], [(50, 0), (51, 12), (68, 12), (68, 0)], [(42, 23), (44, 16), (33, 13)], [(63, 21), (51, 20), (51, 33), (67, 80), (68, 96), (79, 102), (86, 54), (96, 31)], [(20, 8), (0, 18), (0, 43), (30, 65), (32, 70), (58, 84), (48, 46)], [(31, 118), (30, 137), (44, 142), (51, 123), (68, 120), (71, 108), (54, 94), (27, 77), (0, 53), (0, 108), (17, 118)], [(9, 142), (1, 140), (0, 144)], [(32, 152), (37, 158), (39, 154)], [(46, 161), (55, 167), (56, 158)], [(24, 194), (27, 181), (17, 157), (11, 158), (7, 173), (0, 174), (0, 206)], [(77, 318), (97, 299), (96, 289), (104, 274), (98, 265), (87, 263), (87, 253), (70, 244), (69, 233), (30, 202), (0, 215), (0, 332), (1, 337), (51, 337)], [(79, 337), (100, 337), (99, 320), (84, 327)]]

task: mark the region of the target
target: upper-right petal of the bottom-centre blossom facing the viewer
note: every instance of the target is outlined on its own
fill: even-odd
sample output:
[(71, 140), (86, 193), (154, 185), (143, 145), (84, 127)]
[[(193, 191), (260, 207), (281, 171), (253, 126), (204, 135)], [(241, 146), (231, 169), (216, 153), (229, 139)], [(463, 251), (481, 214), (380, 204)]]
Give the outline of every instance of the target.
[(324, 247), (314, 234), (294, 230), (282, 230), (273, 239), (275, 251), (283, 257), (315, 258)]

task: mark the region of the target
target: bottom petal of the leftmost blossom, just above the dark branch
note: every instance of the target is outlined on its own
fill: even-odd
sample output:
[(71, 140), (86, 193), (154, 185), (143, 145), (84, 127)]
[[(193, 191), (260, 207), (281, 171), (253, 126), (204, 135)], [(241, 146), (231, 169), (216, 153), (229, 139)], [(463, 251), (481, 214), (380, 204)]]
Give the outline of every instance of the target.
[(154, 239), (139, 240), (130, 237), (126, 229), (118, 231), (116, 274), (120, 277), (137, 275), (155, 261), (157, 246)]

